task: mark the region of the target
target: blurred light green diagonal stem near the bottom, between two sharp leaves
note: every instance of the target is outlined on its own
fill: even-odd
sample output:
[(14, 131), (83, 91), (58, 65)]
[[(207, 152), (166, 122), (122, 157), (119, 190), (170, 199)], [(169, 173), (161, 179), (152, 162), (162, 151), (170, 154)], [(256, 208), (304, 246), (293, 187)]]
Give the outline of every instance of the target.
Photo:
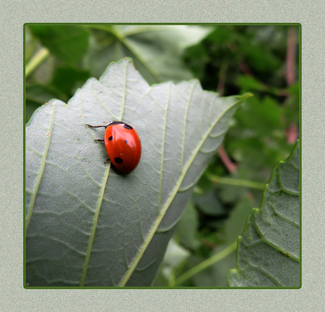
[(201, 272), (205, 268), (207, 268), (210, 265), (213, 265), (214, 263), (220, 261), (221, 259), (227, 257), (230, 253), (235, 251), (237, 248), (237, 241), (233, 242), (231, 245), (229, 245), (227, 248), (225, 248), (223, 251), (218, 252), (214, 256), (210, 257), (209, 259), (201, 262), (200, 264), (194, 266), (190, 270), (188, 270), (186, 273), (181, 275), (179, 278), (175, 280), (174, 286), (177, 286), (181, 283), (183, 283), (188, 278), (192, 277), (193, 275)]

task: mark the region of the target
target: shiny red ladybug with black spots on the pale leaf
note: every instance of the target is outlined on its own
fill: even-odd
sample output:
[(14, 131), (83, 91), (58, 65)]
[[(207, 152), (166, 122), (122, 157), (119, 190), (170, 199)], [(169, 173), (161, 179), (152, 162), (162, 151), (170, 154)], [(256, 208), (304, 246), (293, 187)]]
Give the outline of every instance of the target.
[(108, 159), (114, 167), (128, 174), (136, 169), (141, 158), (141, 141), (136, 130), (122, 121), (110, 121), (107, 126), (91, 126), (91, 128), (105, 127), (104, 142)]

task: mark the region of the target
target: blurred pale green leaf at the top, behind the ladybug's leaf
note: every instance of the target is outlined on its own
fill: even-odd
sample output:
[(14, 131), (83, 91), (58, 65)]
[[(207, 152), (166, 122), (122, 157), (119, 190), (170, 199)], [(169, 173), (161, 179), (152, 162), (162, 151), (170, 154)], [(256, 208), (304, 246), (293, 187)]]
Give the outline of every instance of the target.
[(210, 27), (189, 25), (91, 25), (102, 30), (92, 41), (85, 66), (94, 77), (112, 61), (132, 57), (149, 84), (167, 80), (179, 82), (193, 76), (184, 67), (181, 54), (199, 43)]

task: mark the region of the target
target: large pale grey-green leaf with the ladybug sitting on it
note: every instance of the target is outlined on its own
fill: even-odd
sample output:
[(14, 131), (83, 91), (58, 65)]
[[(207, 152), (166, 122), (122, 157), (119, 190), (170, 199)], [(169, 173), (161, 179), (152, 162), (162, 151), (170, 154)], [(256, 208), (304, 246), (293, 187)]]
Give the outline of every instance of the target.
[[(193, 188), (250, 94), (219, 98), (197, 80), (150, 87), (132, 60), (112, 63), (65, 104), (26, 125), (26, 282), (30, 286), (150, 286)], [(137, 130), (128, 175), (104, 164), (103, 125)]]

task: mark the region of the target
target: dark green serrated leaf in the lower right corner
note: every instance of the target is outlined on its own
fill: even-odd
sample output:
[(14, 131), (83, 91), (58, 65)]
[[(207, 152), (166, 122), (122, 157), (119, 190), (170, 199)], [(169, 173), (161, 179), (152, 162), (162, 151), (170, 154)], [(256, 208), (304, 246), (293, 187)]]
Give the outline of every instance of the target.
[(299, 141), (281, 161), (266, 186), (261, 208), (254, 208), (238, 239), (237, 269), (230, 286), (300, 285)]

